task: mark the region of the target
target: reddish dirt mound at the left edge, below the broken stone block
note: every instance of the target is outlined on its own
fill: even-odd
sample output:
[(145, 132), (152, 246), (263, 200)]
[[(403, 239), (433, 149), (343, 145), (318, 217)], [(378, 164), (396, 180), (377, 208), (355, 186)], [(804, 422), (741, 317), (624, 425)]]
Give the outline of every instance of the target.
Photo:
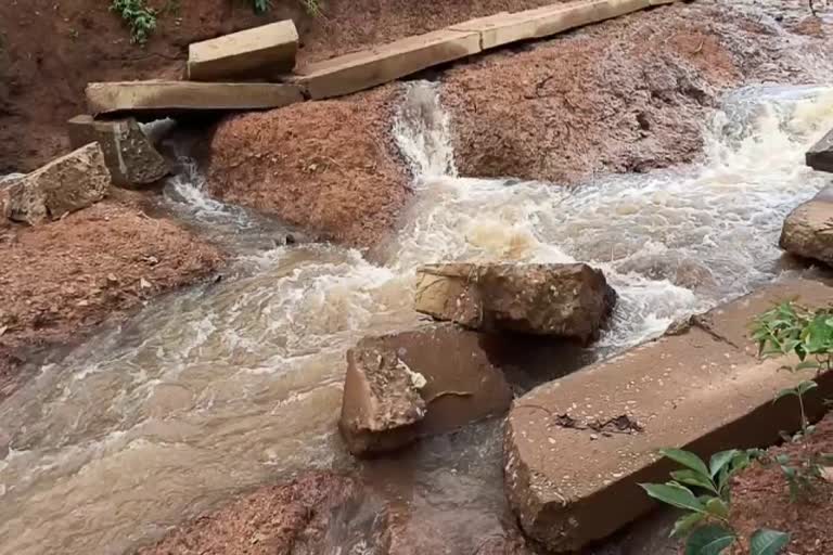
[(221, 253), (131, 202), (36, 228), (0, 229), (0, 400), (34, 349), (77, 343), (108, 315), (191, 283)]

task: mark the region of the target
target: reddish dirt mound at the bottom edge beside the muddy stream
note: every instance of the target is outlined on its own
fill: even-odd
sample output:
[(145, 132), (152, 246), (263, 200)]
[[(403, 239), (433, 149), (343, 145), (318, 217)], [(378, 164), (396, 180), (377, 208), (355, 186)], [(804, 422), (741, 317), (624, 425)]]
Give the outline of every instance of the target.
[(334, 509), (357, 494), (344, 476), (313, 473), (261, 488), (176, 529), (140, 555), (275, 555), (322, 553)]

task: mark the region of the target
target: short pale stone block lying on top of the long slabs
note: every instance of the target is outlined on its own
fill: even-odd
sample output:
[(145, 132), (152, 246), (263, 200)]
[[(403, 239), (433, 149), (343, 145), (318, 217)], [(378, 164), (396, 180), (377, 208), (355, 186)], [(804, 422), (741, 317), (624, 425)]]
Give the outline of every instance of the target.
[(218, 81), (274, 77), (295, 67), (298, 31), (292, 20), (226, 35), (188, 49), (188, 78)]

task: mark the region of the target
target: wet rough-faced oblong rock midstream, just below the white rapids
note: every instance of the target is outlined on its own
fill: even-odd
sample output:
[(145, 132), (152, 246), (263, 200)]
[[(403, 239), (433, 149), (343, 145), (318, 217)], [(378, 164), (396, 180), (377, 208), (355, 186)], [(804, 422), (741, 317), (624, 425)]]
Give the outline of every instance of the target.
[(587, 264), (446, 263), (418, 271), (415, 308), (480, 331), (588, 343), (616, 302), (604, 274)]

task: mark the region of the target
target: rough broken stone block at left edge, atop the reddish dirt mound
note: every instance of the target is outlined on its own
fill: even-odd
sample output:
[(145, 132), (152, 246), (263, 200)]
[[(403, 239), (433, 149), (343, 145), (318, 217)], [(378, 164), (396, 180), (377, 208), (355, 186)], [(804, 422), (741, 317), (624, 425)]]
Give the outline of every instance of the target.
[(5, 211), (13, 221), (44, 223), (98, 203), (108, 188), (104, 154), (91, 143), (12, 181)]

